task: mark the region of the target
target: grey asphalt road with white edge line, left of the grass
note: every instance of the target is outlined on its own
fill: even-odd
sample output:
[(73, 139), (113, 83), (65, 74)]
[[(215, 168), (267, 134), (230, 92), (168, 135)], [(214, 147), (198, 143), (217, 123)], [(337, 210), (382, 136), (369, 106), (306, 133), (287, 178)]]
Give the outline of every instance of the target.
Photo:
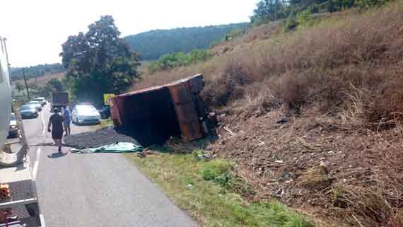
[[(23, 120), (28, 136), (33, 175), (47, 227), (191, 227), (197, 226), (122, 154), (65, 153), (45, 131), (49, 109)], [(71, 133), (90, 127), (71, 125)]]

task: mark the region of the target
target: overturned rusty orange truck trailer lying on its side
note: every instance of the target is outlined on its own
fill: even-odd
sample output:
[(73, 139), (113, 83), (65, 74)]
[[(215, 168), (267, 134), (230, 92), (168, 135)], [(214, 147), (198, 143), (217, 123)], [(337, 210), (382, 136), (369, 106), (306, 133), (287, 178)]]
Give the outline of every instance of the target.
[(198, 74), (117, 95), (111, 109), (115, 128), (143, 146), (163, 144), (170, 136), (200, 139), (209, 133), (208, 112), (199, 95), (203, 88), (203, 75)]

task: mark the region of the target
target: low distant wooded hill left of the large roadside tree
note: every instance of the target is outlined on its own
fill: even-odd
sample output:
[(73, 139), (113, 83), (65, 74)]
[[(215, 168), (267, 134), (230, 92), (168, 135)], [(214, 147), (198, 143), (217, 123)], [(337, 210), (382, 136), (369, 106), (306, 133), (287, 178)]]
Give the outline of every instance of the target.
[[(37, 78), (46, 74), (57, 74), (64, 71), (62, 64), (39, 64), (37, 66), (24, 67), (25, 77), (27, 79)], [(23, 79), (23, 68), (11, 68), (11, 81)]]

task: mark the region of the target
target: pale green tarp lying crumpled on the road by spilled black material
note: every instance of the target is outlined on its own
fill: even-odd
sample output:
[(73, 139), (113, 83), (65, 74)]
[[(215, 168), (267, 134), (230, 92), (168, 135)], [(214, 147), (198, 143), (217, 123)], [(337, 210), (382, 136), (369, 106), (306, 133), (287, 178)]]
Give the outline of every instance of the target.
[(129, 142), (116, 142), (92, 149), (71, 149), (72, 153), (131, 153), (141, 152), (143, 147)]

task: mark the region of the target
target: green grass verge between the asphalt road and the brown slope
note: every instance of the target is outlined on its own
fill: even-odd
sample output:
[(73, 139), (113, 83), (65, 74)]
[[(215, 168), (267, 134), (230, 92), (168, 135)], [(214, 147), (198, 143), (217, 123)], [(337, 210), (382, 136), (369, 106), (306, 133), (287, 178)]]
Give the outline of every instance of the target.
[(234, 163), (222, 159), (197, 161), (198, 154), (202, 151), (187, 155), (160, 153), (147, 158), (125, 155), (202, 226), (313, 226), (278, 202), (248, 203), (236, 193), (240, 180), (233, 177)]

